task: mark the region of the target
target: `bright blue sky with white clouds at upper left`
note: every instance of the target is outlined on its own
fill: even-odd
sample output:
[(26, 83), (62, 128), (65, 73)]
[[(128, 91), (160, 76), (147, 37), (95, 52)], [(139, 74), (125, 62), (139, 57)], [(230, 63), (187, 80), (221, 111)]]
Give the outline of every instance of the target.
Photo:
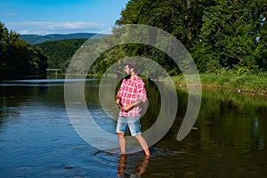
[(0, 21), (20, 35), (110, 33), (129, 0), (1, 0)]

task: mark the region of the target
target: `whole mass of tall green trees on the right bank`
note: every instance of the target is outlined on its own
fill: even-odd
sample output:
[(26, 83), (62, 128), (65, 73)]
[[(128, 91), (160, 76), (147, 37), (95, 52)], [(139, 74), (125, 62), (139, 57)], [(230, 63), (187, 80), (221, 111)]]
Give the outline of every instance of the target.
[[(265, 0), (130, 0), (113, 33), (126, 24), (161, 28), (182, 42), (199, 72), (256, 73), (267, 69), (266, 18)], [(105, 71), (122, 53), (150, 57), (171, 75), (180, 73), (166, 54), (139, 44), (110, 50), (92, 72)]]

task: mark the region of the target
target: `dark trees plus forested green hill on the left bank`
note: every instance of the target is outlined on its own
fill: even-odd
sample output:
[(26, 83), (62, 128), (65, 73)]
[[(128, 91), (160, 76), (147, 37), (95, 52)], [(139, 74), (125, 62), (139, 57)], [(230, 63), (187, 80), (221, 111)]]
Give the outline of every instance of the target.
[(29, 44), (20, 34), (0, 22), (0, 79), (28, 76), (46, 77), (46, 69), (65, 72), (69, 61), (85, 38)]

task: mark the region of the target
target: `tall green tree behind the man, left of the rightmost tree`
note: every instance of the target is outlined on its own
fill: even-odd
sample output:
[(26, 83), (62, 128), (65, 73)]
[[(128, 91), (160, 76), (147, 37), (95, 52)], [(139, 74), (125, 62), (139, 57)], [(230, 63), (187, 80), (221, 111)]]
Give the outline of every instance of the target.
[[(180, 40), (190, 52), (191, 48), (198, 43), (198, 35), (203, 24), (203, 12), (207, 6), (212, 5), (214, 5), (212, 0), (132, 0), (126, 4), (116, 24), (117, 26), (146, 24), (164, 29)], [(135, 55), (142, 53), (145, 57), (150, 57), (171, 75), (177, 75), (180, 72), (169, 56), (156, 49), (136, 45), (134, 48), (132, 44), (127, 45), (125, 50)]]

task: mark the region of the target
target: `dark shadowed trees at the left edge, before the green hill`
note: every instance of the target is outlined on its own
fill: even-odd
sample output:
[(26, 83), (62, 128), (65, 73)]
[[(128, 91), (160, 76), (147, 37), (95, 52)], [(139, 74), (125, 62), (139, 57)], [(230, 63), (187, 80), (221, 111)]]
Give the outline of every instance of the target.
[(44, 75), (47, 58), (35, 45), (20, 39), (0, 22), (0, 79)]

